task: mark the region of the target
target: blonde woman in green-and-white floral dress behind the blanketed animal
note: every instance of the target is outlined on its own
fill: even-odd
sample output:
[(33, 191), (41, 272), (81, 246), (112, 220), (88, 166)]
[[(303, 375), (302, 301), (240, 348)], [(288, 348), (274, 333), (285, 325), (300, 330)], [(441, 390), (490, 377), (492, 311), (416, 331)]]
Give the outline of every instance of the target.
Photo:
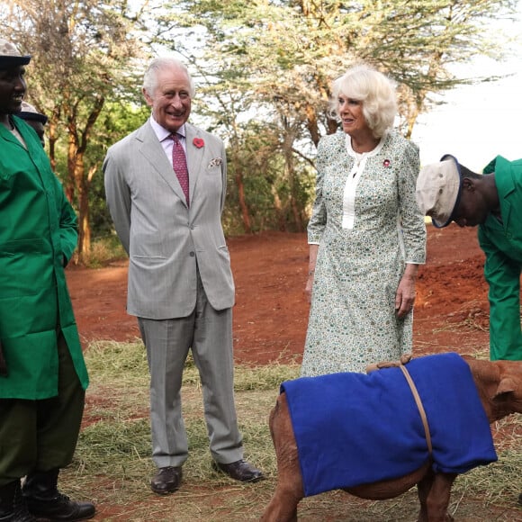
[(410, 353), (415, 281), (426, 257), (415, 199), (419, 148), (392, 129), (392, 82), (356, 66), (332, 91), (343, 131), (318, 148), (302, 376), (365, 372)]

